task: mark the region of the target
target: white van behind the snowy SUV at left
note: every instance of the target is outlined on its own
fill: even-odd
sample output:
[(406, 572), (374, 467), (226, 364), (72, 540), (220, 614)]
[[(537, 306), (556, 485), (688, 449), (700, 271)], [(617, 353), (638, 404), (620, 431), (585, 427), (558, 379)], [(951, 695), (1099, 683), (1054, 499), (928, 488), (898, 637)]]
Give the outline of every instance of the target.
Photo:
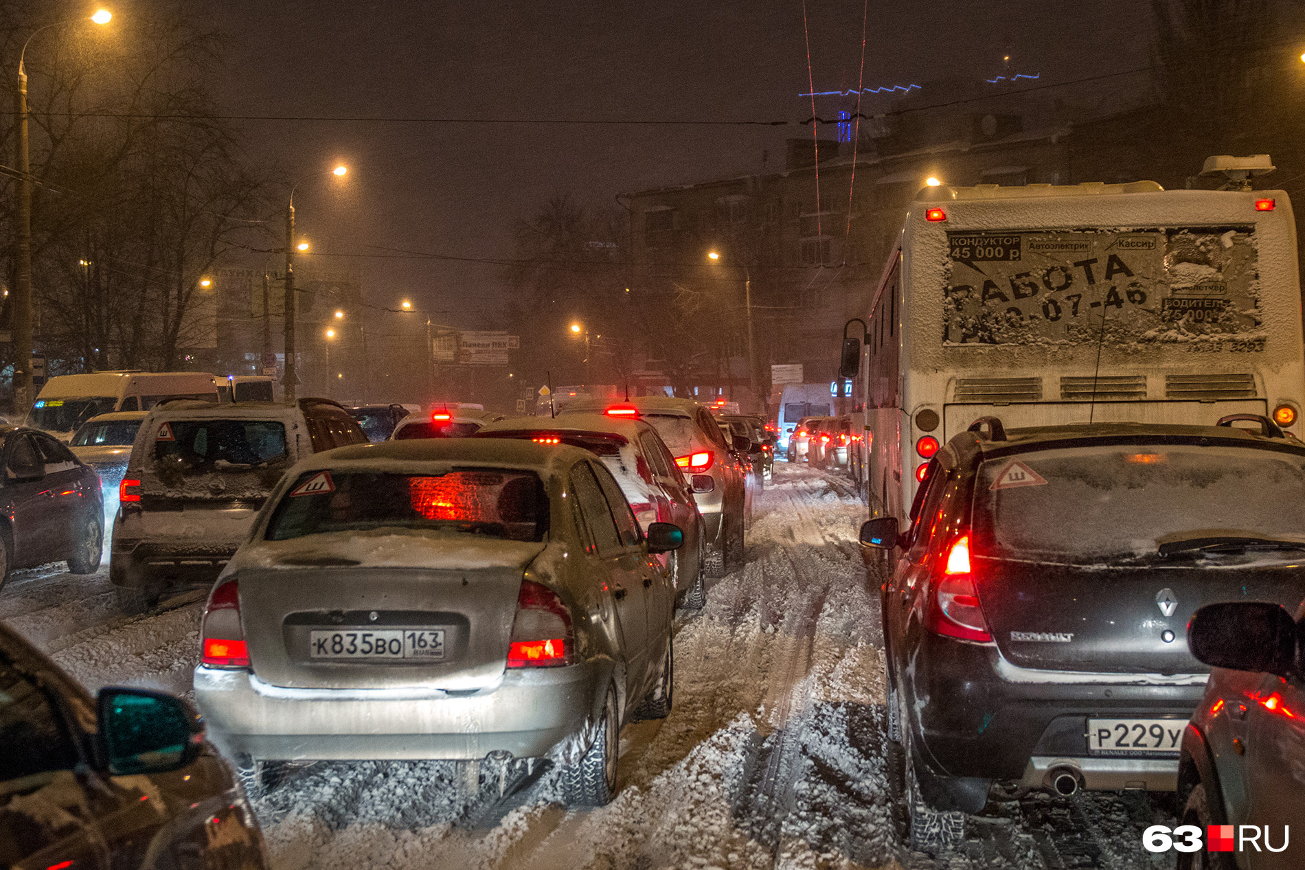
[(111, 411), (149, 411), (159, 399), (218, 400), (207, 372), (95, 372), (46, 381), (27, 412), (27, 425), (68, 441), (86, 420)]

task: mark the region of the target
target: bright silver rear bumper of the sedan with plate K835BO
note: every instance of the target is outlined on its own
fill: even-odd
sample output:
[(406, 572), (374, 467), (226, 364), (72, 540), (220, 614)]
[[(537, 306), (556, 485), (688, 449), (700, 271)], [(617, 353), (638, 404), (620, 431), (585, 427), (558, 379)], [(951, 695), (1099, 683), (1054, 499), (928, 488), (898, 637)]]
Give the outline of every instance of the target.
[(194, 669), (209, 740), (254, 759), (478, 759), (545, 755), (586, 733), (599, 668), (513, 670), (470, 695), (436, 689), (283, 689), (245, 670)]

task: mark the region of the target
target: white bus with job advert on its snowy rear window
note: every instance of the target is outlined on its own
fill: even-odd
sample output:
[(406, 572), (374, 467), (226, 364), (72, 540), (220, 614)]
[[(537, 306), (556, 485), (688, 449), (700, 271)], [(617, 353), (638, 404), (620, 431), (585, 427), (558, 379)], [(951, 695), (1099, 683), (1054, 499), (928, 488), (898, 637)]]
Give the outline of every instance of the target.
[(872, 515), (904, 518), (928, 457), (977, 417), (1292, 430), (1305, 393), (1283, 190), (925, 188), (865, 321), (844, 365), (860, 350)]

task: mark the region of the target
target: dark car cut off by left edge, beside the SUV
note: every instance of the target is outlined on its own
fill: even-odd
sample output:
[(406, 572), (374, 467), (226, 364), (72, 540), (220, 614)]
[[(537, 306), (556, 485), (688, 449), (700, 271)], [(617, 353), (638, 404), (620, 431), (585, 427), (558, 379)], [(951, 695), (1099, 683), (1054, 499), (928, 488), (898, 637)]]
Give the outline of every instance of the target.
[(0, 427), (0, 584), (9, 571), (68, 562), (99, 569), (104, 500), (95, 471), (44, 432)]

